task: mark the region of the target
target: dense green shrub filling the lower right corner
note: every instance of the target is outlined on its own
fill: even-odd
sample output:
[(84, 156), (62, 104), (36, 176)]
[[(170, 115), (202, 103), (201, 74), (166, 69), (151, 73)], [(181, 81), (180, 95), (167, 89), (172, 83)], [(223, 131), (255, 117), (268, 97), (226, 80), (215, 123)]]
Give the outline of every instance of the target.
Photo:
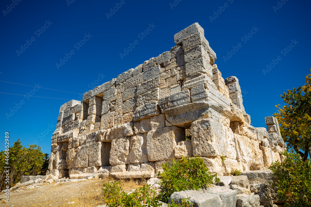
[(299, 160), (299, 155), (284, 152), (287, 156), (282, 163), (271, 164), (272, 186), (277, 188), (280, 200), (286, 206), (311, 206), (311, 169), (310, 160)]

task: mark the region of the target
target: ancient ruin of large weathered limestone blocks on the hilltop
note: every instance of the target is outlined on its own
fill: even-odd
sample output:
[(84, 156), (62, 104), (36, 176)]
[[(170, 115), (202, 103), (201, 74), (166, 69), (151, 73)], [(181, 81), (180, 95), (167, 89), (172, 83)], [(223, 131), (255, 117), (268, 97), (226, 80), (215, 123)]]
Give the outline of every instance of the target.
[[(195, 23), (175, 47), (60, 107), (49, 173), (59, 178), (152, 178), (161, 165), (200, 156), (222, 176), (284, 160), (276, 118), (254, 128), (239, 80), (223, 79)], [(225, 159), (224, 159), (225, 157)]]

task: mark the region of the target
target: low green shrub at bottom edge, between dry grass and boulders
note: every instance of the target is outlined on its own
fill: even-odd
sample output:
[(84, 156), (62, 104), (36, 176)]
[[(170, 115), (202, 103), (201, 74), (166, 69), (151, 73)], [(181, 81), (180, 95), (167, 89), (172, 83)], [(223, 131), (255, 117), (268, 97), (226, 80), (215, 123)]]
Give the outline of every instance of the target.
[(162, 204), (158, 201), (156, 191), (150, 189), (148, 185), (135, 190), (129, 195), (122, 191), (120, 182), (113, 181), (103, 184), (103, 195), (107, 206), (152, 206), (159, 207)]

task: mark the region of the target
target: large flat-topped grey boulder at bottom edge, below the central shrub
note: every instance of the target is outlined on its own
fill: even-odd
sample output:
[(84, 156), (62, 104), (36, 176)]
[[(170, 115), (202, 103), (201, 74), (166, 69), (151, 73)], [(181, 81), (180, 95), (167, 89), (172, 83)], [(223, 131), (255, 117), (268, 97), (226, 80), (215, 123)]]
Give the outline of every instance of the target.
[(194, 206), (199, 207), (235, 207), (236, 206), (236, 191), (231, 190), (227, 187), (220, 187), (212, 185), (207, 189), (199, 191), (186, 190), (174, 192), (169, 197), (169, 204), (172, 204), (172, 199), (175, 204), (181, 204), (181, 200), (190, 197), (190, 202)]

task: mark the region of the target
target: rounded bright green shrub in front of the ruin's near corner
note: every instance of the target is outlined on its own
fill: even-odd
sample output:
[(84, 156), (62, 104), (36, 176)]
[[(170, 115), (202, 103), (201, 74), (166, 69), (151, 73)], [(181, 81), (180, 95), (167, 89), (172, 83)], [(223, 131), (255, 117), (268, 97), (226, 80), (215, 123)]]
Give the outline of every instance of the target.
[(163, 172), (159, 172), (158, 176), (161, 179), (161, 200), (167, 203), (169, 197), (175, 191), (184, 191), (189, 189), (198, 190), (199, 188), (207, 187), (215, 182), (220, 182), (217, 174), (211, 175), (209, 169), (204, 164), (201, 157), (182, 158), (175, 162), (172, 166), (169, 163), (162, 165)]

